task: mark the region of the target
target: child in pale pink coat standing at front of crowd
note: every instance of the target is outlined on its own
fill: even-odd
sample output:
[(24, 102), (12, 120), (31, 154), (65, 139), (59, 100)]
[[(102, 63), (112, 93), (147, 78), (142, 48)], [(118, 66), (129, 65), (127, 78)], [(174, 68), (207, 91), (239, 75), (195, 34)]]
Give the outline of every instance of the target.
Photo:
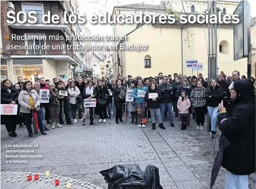
[(190, 100), (189, 97), (186, 95), (184, 90), (181, 91), (181, 96), (178, 98), (177, 108), (178, 112), (182, 119), (182, 128), (181, 130), (186, 130), (187, 126), (189, 125), (189, 107), (190, 107)]

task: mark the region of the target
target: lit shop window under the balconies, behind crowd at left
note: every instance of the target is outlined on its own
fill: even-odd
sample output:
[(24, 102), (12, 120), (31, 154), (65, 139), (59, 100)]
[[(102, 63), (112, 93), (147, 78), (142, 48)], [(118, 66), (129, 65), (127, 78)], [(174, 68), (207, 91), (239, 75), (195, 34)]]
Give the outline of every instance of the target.
[(15, 79), (22, 77), (24, 81), (31, 80), (34, 83), (43, 77), (43, 65), (13, 65), (13, 75)]

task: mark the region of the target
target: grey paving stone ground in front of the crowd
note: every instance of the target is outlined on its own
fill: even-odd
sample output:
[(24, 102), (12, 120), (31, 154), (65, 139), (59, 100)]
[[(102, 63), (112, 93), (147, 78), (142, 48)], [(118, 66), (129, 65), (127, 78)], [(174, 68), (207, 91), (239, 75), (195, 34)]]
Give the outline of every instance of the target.
[[(175, 127), (165, 121), (166, 130), (145, 128), (128, 122), (90, 126), (81, 122), (50, 129), (47, 136), (29, 138), (26, 128), (17, 128), (18, 137), (8, 138), (1, 125), (1, 172), (50, 171), (73, 179), (90, 181), (100, 187), (108, 184), (99, 171), (118, 164), (151, 164), (159, 168), (160, 182), (164, 189), (210, 188), (211, 169), (218, 150), (218, 139), (210, 133), (195, 130), (195, 121), (186, 131), (180, 130), (180, 121), (174, 118)], [(49, 126), (49, 125), (48, 125)], [(38, 147), (7, 147), (14, 144), (38, 145)], [(7, 153), (6, 150), (35, 150), (35, 153)], [(215, 149), (215, 151), (214, 151)], [(42, 158), (10, 158), (6, 155), (43, 155)], [(28, 160), (28, 163), (6, 163), (7, 160)], [(221, 168), (214, 188), (225, 188), (225, 169)], [(249, 188), (255, 188), (255, 174), (249, 176)]]

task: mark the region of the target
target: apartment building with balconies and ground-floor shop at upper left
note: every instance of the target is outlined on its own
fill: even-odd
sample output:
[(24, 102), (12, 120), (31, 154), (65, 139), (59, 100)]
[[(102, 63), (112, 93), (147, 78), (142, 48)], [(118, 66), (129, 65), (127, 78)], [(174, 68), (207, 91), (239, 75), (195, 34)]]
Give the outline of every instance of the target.
[[(79, 45), (78, 40), (67, 38), (67, 36), (79, 35), (81, 28), (79, 24), (64, 22), (64, 11), (67, 17), (69, 14), (79, 14), (79, 1), (1, 1), (1, 36), (3, 47), (1, 47), (1, 70), (5, 70), (1, 79), (9, 78), (12, 82), (17, 82), (17, 77), (21, 76), (25, 80), (35, 82), (37, 78), (44, 77), (52, 79), (63, 77), (64, 80), (79, 76), (76, 68), (82, 67), (84, 53), (78, 50), (68, 49), (67, 45)], [(7, 12), (24, 11), (29, 13), (35, 11), (37, 22), (31, 24), (29, 18), (20, 14), (19, 20), (24, 23), (7, 23)], [(60, 16), (58, 24), (43, 23), (42, 16), (50, 13)], [(11, 19), (12, 21), (12, 19)], [(27, 36), (29, 39), (12, 40), (12, 36)], [(8, 39), (6, 36), (9, 36)], [(56, 36), (62, 36), (58, 40)], [(17, 49), (8, 50), (7, 45), (37, 45), (37, 49)], [(49, 45), (49, 49), (44, 49), (44, 45)], [(59, 45), (57, 47), (57, 45)]]

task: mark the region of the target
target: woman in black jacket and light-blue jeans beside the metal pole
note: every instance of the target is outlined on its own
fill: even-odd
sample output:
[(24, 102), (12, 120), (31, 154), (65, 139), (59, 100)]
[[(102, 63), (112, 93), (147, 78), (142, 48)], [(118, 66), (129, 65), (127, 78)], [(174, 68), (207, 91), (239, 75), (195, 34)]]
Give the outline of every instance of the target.
[(211, 137), (216, 136), (216, 121), (218, 116), (218, 105), (223, 100), (222, 88), (217, 84), (216, 79), (210, 80), (209, 89), (206, 91), (206, 105), (211, 119)]

